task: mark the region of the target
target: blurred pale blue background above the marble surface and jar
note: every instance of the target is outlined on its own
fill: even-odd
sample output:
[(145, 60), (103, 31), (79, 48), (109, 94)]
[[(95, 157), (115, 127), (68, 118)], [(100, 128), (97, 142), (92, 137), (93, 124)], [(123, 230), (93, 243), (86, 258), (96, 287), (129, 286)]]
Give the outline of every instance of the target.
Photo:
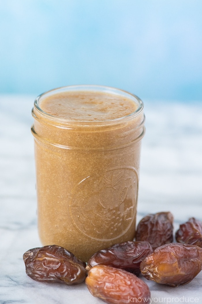
[(201, 0), (0, 0), (0, 93), (74, 84), (202, 100)]

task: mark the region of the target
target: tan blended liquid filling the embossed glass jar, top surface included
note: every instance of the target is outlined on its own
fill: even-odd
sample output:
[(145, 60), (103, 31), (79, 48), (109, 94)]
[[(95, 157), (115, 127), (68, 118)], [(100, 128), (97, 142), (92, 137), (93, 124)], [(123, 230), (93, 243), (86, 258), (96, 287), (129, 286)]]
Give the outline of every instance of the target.
[[(38, 230), (87, 261), (97, 250), (133, 240), (143, 111), (106, 92), (42, 95), (33, 110)], [(126, 118), (121, 118), (126, 116)]]

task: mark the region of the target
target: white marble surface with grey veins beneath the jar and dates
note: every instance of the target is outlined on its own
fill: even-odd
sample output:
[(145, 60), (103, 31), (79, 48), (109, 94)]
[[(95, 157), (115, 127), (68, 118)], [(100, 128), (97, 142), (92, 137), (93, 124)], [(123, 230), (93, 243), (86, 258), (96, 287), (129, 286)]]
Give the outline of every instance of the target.
[[(40, 283), (25, 274), (23, 253), (41, 246), (30, 132), (33, 102), (33, 96), (0, 96), (0, 303), (101, 304), (85, 284)], [(137, 220), (171, 211), (177, 230), (190, 216), (202, 220), (202, 103), (144, 104), (147, 131)], [(202, 302), (202, 272), (177, 288), (144, 281), (151, 289), (151, 303)]]

